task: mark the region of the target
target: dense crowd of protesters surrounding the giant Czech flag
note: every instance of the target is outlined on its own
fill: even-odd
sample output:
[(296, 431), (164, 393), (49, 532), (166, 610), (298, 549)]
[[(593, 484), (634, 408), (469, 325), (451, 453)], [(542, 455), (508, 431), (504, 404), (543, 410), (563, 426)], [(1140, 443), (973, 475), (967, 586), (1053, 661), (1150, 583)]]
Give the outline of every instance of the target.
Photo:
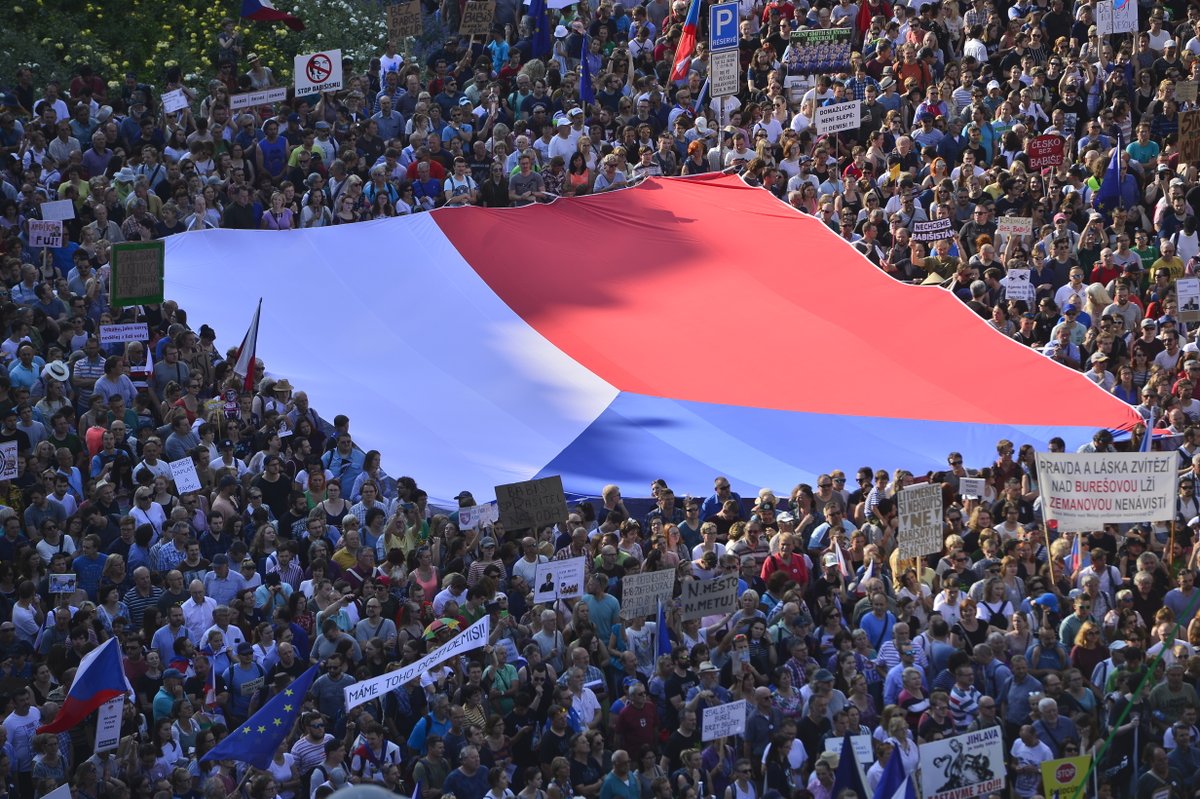
[[(920, 744), (988, 728), (1012, 797), (1040, 795), (1039, 764), (1080, 753), (1096, 756), (1097, 795), (1200, 795), (1200, 349), (1176, 292), (1200, 275), (1200, 190), (1180, 157), (1195, 102), (1176, 96), (1200, 76), (1200, 11), (1139, 4), (1140, 32), (1108, 36), (1094, 4), (1063, 0), (738, 8), (744, 85), (724, 100), (708, 91), (706, 13), (671, 79), (684, 0), (581, 0), (548, 24), (502, 2), (486, 41), (450, 35), (420, 59), (389, 42), (347, 59), (342, 90), (262, 107), (236, 97), (286, 82), (233, 20), (204, 86), (178, 70), (161, 85), (16, 70), (0, 113), (0, 443), (18, 452), (0, 481), (0, 799), (64, 783), (76, 799), (314, 799), (348, 783), (830, 799), (841, 747), (827, 739), (869, 737), (870, 795), (890, 758), (913, 774)], [(834, 28), (851, 31), (848, 62), (790, 73), (792, 31)], [(164, 113), (176, 89), (188, 107)], [(859, 127), (817, 134), (817, 108), (856, 101)], [(1045, 134), (1063, 161), (1031, 168)], [(460, 525), (468, 491), (432, 506), (262, 362), (246, 390), (179, 302), (108, 305), (118, 242), (719, 170), (1135, 405), (1153, 447), (1178, 452), (1176, 518), (1076, 542), (1043, 521), (1033, 447), (1000, 441), (992, 463), (952, 452), (919, 477), (830, 469), (744, 499), (722, 476), (659, 481), (628, 505), (606, 486), (544, 529)], [(66, 242), (31, 247), (26, 223), (62, 199)], [(1030, 234), (997, 233), (1004, 217)], [(943, 218), (949, 238), (913, 240)], [(1014, 269), (1030, 270), (1021, 299)], [(148, 341), (100, 343), (102, 325), (134, 320)], [(1100, 431), (1086, 449), (1112, 446)], [(176, 489), (168, 464), (184, 458), (200, 491)], [(983, 495), (962, 495), (968, 475)], [(914, 479), (941, 485), (944, 548), (902, 560), (895, 492)], [(577, 557), (584, 595), (535, 603), (538, 565)], [(676, 597), (737, 575), (737, 608), (684, 620), (671, 603), (665, 629), (630, 618), (623, 578), (652, 570), (676, 572)], [(484, 615), (487, 647), (347, 710), (347, 685)], [(118, 749), (94, 753), (94, 719), (38, 733), (109, 638), (133, 691)], [(311, 665), (270, 768), (202, 762)], [(745, 732), (702, 740), (704, 711), (736, 699)]]

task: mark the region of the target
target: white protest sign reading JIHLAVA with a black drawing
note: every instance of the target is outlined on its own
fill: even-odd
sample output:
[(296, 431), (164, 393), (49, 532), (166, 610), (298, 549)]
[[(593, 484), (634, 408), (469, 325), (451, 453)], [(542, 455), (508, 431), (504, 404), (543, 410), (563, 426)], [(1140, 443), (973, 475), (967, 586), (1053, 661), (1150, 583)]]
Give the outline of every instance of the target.
[(919, 749), (924, 799), (970, 799), (1004, 789), (1000, 727), (931, 740)]

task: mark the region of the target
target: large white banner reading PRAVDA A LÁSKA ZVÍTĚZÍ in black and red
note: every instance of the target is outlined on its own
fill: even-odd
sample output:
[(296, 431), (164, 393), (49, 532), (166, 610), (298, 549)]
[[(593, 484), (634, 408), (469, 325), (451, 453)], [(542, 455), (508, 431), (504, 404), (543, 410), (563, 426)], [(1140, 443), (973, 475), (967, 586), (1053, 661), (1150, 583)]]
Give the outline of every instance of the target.
[(1175, 518), (1175, 452), (1038, 452), (1042, 512), (1060, 533)]

